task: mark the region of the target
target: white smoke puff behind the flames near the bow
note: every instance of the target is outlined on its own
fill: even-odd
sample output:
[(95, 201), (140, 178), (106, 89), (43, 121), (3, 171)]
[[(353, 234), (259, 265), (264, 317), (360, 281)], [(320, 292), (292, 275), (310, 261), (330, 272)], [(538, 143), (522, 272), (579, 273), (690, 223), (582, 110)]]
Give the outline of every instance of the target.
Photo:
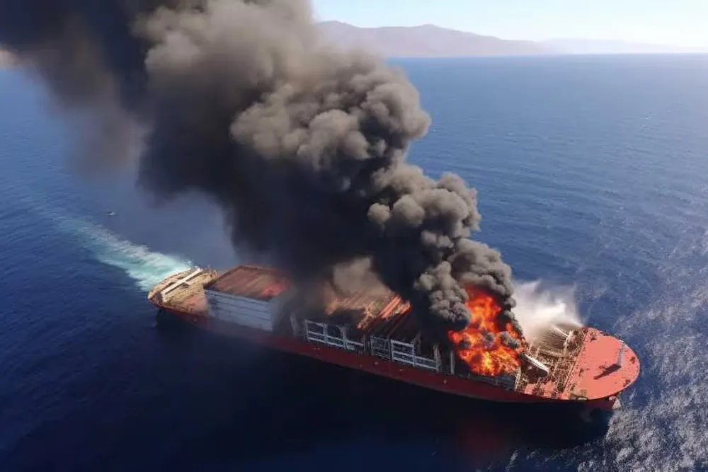
[(542, 288), (540, 281), (515, 285), (514, 313), (531, 343), (539, 342), (544, 333), (557, 326), (576, 329), (583, 326), (575, 299), (575, 287)]

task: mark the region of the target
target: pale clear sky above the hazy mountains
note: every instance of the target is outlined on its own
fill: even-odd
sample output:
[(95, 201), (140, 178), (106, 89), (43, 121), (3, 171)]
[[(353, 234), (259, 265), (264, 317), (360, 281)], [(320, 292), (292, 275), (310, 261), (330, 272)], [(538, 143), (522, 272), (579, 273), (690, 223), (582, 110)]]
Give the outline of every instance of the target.
[(708, 47), (708, 0), (313, 0), (319, 20)]

